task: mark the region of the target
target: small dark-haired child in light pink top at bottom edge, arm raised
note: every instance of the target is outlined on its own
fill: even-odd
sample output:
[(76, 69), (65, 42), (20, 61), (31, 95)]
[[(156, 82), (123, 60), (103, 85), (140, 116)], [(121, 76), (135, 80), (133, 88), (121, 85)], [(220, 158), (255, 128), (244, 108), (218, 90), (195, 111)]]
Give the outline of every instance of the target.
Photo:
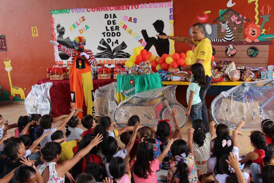
[(129, 165), (130, 156), (127, 155), (125, 159), (115, 157), (110, 161), (109, 172), (113, 177), (113, 183), (130, 183), (131, 172)]

